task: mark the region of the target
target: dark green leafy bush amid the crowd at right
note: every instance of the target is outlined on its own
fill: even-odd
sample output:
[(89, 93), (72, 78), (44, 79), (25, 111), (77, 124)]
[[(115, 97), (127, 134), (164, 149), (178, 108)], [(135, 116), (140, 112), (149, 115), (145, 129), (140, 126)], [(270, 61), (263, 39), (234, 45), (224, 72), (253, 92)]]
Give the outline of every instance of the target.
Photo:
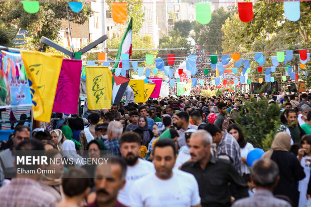
[(235, 122), (241, 127), (245, 139), (254, 147), (269, 149), (275, 134), (280, 131), (280, 108), (277, 104), (269, 105), (264, 97), (243, 102), (245, 104), (240, 116), (235, 117)]

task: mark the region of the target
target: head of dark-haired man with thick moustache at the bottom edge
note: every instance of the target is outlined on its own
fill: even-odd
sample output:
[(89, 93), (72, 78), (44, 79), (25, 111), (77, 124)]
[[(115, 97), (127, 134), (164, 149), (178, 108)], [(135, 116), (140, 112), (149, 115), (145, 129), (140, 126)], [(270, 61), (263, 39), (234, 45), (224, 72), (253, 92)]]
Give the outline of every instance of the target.
[[(110, 174), (111, 173), (111, 174)], [(98, 164), (95, 174), (96, 199), (86, 207), (126, 207), (117, 200), (118, 191), (124, 187), (126, 163), (121, 157), (111, 157), (111, 171)]]

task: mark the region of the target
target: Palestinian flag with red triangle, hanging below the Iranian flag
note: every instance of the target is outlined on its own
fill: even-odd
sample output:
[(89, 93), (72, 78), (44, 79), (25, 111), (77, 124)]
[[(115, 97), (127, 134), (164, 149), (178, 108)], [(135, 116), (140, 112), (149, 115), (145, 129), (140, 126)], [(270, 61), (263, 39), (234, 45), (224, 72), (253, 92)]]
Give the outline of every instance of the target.
[(112, 104), (119, 105), (130, 79), (123, 76), (116, 77), (114, 73), (112, 75)]

